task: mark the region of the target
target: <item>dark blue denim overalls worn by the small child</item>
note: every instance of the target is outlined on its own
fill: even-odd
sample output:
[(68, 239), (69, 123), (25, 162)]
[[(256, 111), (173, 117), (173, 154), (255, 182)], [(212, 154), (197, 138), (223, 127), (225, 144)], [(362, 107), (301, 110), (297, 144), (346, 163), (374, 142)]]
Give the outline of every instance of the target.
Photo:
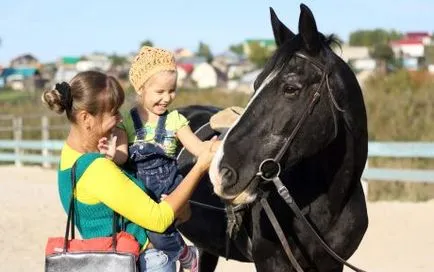
[[(176, 160), (169, 157), (161, 147), (167, 136), (167, 112), (158, 118), (155, 143), (145, 143), (146, 130), (137, 108), (131, 109), (130, 114), (137, 140), (128, 147), (129, 164), (136, 177), (144, 182), (148, 194), (156, 202), (160, 202), (161, 194), (171, 193), (183, 179), (178, 172)], [(148, 231), (148, 238), (155, 248), (163, 250), (169, 258), (177, 258), (184, 246), (181, 235), (173, 225), (164, 233)]]

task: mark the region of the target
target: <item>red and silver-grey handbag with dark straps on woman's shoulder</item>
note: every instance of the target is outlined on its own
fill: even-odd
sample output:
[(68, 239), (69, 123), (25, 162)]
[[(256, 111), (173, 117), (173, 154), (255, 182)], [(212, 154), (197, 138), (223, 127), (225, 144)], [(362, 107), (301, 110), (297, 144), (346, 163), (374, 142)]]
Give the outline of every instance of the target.
[(111, 237), (75, 239), (73, 192), (76, 185), (76, 163), (71, 169), (72, 193), (65, 236), (48, 238), (45, 247), (45, 271), (136, 272), (139, 243), (131, 234), (125, 231), (117, 232), (119, 215), (116, 212), (113, 212)]

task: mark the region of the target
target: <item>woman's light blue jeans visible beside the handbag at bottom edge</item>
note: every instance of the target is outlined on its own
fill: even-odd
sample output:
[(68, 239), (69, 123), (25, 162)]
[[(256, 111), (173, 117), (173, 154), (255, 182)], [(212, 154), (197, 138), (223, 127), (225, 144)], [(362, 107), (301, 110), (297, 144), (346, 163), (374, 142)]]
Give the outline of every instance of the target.
[(176, 260), (169, 258), (163, 251), (147, 249), (139, 256), (139, 272), (175, 272)]

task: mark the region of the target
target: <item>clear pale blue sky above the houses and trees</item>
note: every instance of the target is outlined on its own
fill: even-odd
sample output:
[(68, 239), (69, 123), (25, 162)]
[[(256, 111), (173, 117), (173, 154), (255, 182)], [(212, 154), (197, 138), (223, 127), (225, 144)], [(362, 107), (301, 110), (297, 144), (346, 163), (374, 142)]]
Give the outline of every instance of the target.
[[(205, 4), (206, 3), (206, 4)], [(357, 29), (434, 31), (432, 0), (306, 0), (318, 28), (344, 40)], [(272, 38), (268, 7), (294, 32), (293, 0), (10, 0), (0, 4), (0, 64), (23, 53), (42, 62), (95, 51), (126, 54), (150, 39), (168, 49), (219, 53), (246, 38)]]

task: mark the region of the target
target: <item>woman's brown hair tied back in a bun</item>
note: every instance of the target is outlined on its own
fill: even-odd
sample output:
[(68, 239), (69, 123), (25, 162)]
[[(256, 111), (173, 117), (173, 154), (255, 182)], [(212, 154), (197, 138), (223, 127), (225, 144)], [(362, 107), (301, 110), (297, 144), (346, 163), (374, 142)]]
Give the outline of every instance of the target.
[(75, 123), (76, 113), (85, 110), (96, 116), (103, 112), (117, 112), (124, 103), (122, 86), (112, 76), (87, 71), (78, 73), (71, 82), (56, 84), (53, 90), (42, 94), (42, 102), (58, 114), (66, 112)]

